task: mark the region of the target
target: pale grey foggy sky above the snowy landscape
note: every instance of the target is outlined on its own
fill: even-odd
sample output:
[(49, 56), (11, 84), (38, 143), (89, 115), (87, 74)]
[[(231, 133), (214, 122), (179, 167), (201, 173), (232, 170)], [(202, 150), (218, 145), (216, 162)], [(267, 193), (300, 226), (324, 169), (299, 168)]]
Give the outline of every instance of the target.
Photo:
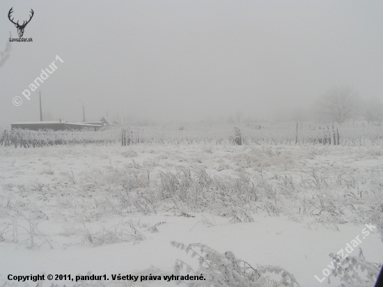
[[(383, 100), (383, 1), (1, 1), (0, 127), (108, 113), (153, 121), (272, 118), (306, 109), (331, 86)], [(15, 107), (19, 95), (23, 103)]]

